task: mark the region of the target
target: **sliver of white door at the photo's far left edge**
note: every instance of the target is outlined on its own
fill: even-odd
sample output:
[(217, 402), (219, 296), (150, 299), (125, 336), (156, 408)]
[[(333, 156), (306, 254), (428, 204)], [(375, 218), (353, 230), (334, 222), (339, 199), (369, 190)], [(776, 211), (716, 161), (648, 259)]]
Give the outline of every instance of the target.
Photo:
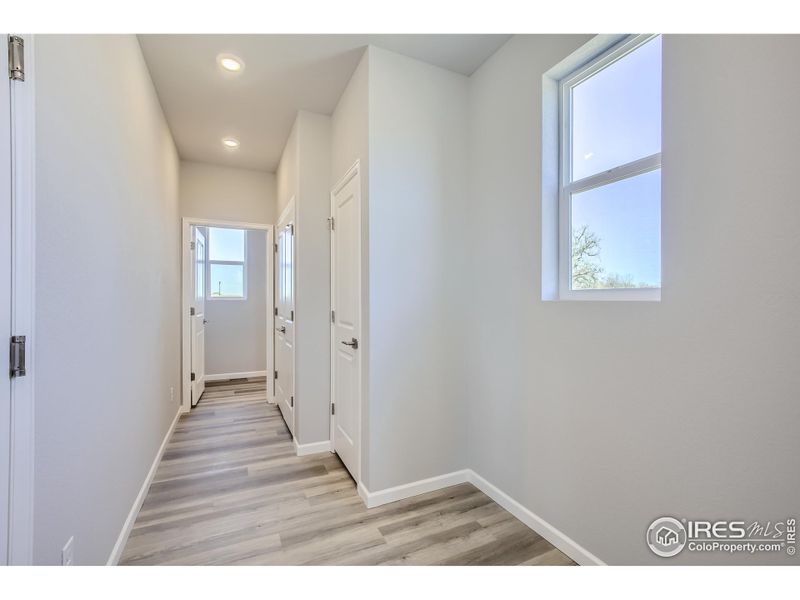
[[(3, 36), (5, 39), (7, 36)], [(11, 338), (11, 81), (8, 53), (0, 52), (0, 340)], [(6, 355), (7, 356), (7, 355)], [(8, 564), (9, 493), (11, 487), (11, 375), (0, 376), (0, 565)]]

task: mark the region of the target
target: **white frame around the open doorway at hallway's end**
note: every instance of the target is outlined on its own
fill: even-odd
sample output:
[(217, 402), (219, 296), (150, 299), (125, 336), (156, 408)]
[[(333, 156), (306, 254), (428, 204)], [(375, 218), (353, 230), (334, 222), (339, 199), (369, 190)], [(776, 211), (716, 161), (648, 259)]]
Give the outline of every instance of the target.
[[(181, 412), (188, 413), (192, 408), (191, 397), (191, 322), (189, 320), (189, 307), (192, 303), (191, 292), (193, 289), (191, 250), (192, 226), (198, 227), (230, 227), (234, 229), (254, 229), (267, 232), (267, 257), (265, 282), (267, 285), (267, 402), (274, 402), (275, 381), (270, 373), (275, 372), (275, 345), (273, 341), (275, 327), (274, 298), (273, 298), (273, 261), (275, 227), (269, 223), (248, 223), (246, 221), (226, 221), (224, 219), (203, 219), (200, 217), (181, 217)], [(208, 241), (206, 240), (206, 244)], [(206, 246), (208, 252), (208, 246)]]

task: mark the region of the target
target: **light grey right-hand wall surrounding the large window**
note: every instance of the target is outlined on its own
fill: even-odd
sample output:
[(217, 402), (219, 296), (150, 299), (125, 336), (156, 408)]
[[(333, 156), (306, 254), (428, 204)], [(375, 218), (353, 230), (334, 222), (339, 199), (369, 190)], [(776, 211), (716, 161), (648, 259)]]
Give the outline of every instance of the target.
[(541, 77), (586, 39), (514, 37), (470, 81), (470, 466), (609, 563), (786, 562), (644, 534), (796, 513), (800, 38), (665, 36), (662, 301), (543, 302)]

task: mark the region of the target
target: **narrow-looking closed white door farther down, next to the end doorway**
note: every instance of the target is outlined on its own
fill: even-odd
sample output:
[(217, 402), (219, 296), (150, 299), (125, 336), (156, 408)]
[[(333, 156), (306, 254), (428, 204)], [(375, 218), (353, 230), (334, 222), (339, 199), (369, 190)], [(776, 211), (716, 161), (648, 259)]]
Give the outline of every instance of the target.
[(275, 237), (275, 399), (294, 435), (294, 202)]

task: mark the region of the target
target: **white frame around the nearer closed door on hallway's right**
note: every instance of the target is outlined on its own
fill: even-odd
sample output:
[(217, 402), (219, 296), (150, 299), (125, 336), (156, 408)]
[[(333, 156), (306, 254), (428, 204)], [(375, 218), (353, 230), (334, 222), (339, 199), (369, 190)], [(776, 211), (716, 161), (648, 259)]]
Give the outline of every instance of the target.
[[(359, 320), (358, 330), (359, 330), (359, 335), (361, 337), (358, 340), (359, 352), (356, 353), (356, 363), (357, 363), (356, 364), (356, 371), (357, 371), (356, 378), (358, 380), (358, 385), (356, 386), (357, 389), (358, 389), (358, 398), (356, 400), (356, 404), (358, 405), (357, 406), (357, 413), (358, 413), (358, 424), (357, 424), (357, 428), (358, 428), (358, 451), (356, 452), (356, 456), (358, 457), (358, 459), (357, 459), (357, 464), (358, 464), (357, 470), (358, 470), (358, 472), (357, 473), (353, 473), (353, 478), (356, 480), (356, 482), (358, 483), (359, 486), (363, 486), (363, 484), (361, 483), (361, 481), (362, 481), (361, 454), (362, 454), (362, 449), (363, 449), (364, 429), (362, 427), (361, 416), (362, 416), (362, 413), (363, 413), (363, 406), (362, 405), (363, 405), (363, 402), (364, 402), (364, 389), (363, 389), (363, 380), (362, 380), (362, 360), (361, 360), (361, 357), (363, 356), (363, 353), (367, 349), (367, 339), (366, 339), (366, 336), (364, 335), (364, 314), (363, 314), (363, 310), (362, 310), (363, 309), (363, 304), (362, 304), (362, 297), (361, 297), (362, 284), (363, 284), (363, 281), (362, 281), (362, 279), (363, 279), (363, 271), (362, 271), (362, 269), (363, 269), (363, 256), (361, 254), (361, 252), (362, 252), (361, 239), (363, 237), (363, 235), (362, 235), (363, 232), (361, 230), (361, 211), (362, 211), (361, 203), (363, 201), (363, 198), (361, 197), (362, 196), (362, 194), (361, 194), (361, 191), (362, 191), (361, 190), (361, 180), (360, 180), (360, 178), (361, 178), (361, 163), (360, 163), (359, 159), (356, 159), (356, 161), (353, 163), (353, 165), (349, 169), (347, 169), (347, 171), (345, 172), (344, 176), (331, 189), (331, 193), (330, 193), (331, 215), (330, 216), (331, 216), (331, 218), (333, 218), (334, 214), (335, 214), (334, 203), (336, 202), (336, 194), (338, 194), (341, 191), (341, 189), (344, 186), (346, 186), (348, 183), (350, 183), (350, 180), (353, 179), (353, 177), (356, 177), (356, 176), (359, 177), (358, 210), (356, 211), (356, 215), (357, 215), (356, 218), (357, 218), (357, 221), (358, 221), (356, 223), (356, 231), (357, 231), (357, 235), (356, 235), (356, 238), (357, 238), (356, 239), (356, 248), (357, 248), (356, 249), (356, 256), (358, 256), (358, 268), (357, 268), (358, 290), (357, 290), (357, 293), (356, 293), (356, 299), (358, 301), (358, 308), (356, 309), (356, 314), (358, 314), (358, 320)], [(335, 295), (334, 295), (334, 290), (335, 290), (335, 285), (336, 285), (336, 254), (335, 254), (335, 248), (334, 248), (334, 238), (335, 238), (335, 236), (336, 236), (336, 224), (334, 222), (334, 226), (333, 226), (333, 228), (331, 230), (331, 236), (330, 236), (330, 238), (331, 238), (331, 252), (330, 252), (330, 254), (331, 254), (330, 305), (331, 305), (331, 310), (332, 311), (336, 310), (336, 302), (335, 302)], [(330, 394), (330, 396), (331, 396), (331, 405), (333, 405), (336, 402), (336, 332), (334, 331), (334, 328), (336, 327), (335, 323), (331, 322), (330, 327), (331, 327), (331, 329), (330, 329), (330, 331), (331, 331), (331, 335), (330, 335), (330, 338), (331, 338), (331, 348), (330, 348), (330, 354), (331, 354), (331, 394)], [(333, 411), (331, 410), (331, 411), (329, 411), (329, 413), (333, 413)], [(331, 414), (331, 419), (330, 419), (331, 452), (336, 452), (335, 426), (336, 426), (336, 414), (333, 413), (333, 414)]]

